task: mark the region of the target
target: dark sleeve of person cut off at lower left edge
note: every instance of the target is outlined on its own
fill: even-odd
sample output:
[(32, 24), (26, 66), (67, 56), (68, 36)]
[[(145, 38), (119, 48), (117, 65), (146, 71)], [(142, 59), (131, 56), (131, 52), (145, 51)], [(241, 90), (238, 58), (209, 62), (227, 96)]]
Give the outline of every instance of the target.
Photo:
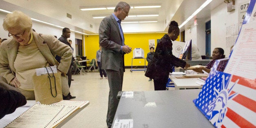
[(20, 93), (18, 88), (0, 81), (0, 119), (25, 104), (26, 97)]

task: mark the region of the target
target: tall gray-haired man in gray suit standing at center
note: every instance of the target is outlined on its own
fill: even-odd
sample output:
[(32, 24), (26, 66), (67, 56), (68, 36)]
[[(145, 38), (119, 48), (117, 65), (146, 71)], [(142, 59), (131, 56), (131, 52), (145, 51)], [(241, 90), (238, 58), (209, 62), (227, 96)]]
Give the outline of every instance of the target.
[(124, 20), (130, 11), (126, 2), (118, 2), (114, 13), (104, 18), (99, 25), (99, 45), (102, 46), (102, 69), (108, 74), (109, 95), (107, 126), (111, 127), (117, 105), (117, 93), (122, 90), (124, 77), (124, 54), (132, 49), (124, 45), (124, 33), (121, 20)]

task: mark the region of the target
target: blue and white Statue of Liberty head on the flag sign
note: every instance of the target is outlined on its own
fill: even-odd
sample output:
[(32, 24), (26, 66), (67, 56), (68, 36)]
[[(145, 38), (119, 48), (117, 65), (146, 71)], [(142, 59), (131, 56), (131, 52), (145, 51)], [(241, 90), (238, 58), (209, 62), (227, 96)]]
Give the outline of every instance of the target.
[(236, 95), (238, 95), (238, 93), (230, 95), (232, 88), (235, 84), (238, 83), (238, 81), (239, 79), (237, 79), (233, 86), (229, 90), (227, 90), (228, 83), (225, 86), (225, 76), (222, 75), (221, 90), (218, 91), (214, 87), (214, 95), (216, 96), (216, 99), (214, 99), (213, 102), (209, 104), (209, 111), (207, 112), (207, 115), (210, 116), (209, 120), (217, 128), (221, 128), (222, 121), (227, 113), (228, 100), (233, 99), (234, 97), (236, 97)]

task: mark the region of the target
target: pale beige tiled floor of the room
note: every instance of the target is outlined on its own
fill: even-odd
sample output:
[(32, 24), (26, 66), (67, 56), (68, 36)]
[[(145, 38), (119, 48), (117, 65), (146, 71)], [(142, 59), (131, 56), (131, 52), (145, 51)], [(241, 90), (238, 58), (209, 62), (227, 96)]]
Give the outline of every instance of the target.
[[(126, 69), (124, 73), (123, 91), (154, 90), (154, 82), (148, 81), (144, 71)], [(108, 108), (108, 79), (99, 79), (99, 72), (86, 75), (73, 75), (71, 95), (77, 101), (90, 101), (84, 110), (78, 113), (62, 128), (107, 128), (106, 113)]]

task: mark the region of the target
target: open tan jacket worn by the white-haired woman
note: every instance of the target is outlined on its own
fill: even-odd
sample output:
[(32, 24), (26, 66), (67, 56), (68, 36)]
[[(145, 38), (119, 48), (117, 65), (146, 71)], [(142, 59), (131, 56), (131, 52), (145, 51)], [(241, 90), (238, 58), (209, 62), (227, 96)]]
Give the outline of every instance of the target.
[[(57, 68), (64, 72), (68, 72), (68, 68), (71, 63), (72, 50), (70, 46), (60, 42), (53, 35), (41, 35), (33, 32), (33, 39), (38, 49), (51, 65), (57, 65)], [(2, 42), (0, 46), (0, 76), (7, 79), (10, 82), (15, 77), (14, 61), (17, 56), (19, 43), (15, 39), (8, 39)], [(55, 56), (62, 56), (60, 64), (55, 60)], [(34, 58), (37, 61), (37, 58)], [(28, 65), (29, 66), (29, 65)]]

